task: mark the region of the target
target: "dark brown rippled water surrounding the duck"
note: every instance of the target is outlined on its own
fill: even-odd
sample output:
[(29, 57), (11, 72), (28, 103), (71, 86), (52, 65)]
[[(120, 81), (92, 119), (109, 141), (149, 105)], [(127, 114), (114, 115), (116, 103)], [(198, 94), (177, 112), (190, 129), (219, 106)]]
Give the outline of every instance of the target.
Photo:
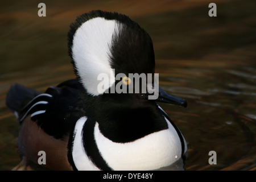
[[(8, 3), (8, 2), (7, 2)], [(11, 84), (44, 91), (73, 78), (69, 24), (93, 9), (127, 14), (154, 42), (159, 85), (188, 107), (160, 104), (188, 142), (186, 170), (256, 170), (255, 1), (12, 1), (0, 7), (0, 169), (20, 162), (19, 126), (5, 106)], [(217, 164), (208, 163), (216, 151)]]

